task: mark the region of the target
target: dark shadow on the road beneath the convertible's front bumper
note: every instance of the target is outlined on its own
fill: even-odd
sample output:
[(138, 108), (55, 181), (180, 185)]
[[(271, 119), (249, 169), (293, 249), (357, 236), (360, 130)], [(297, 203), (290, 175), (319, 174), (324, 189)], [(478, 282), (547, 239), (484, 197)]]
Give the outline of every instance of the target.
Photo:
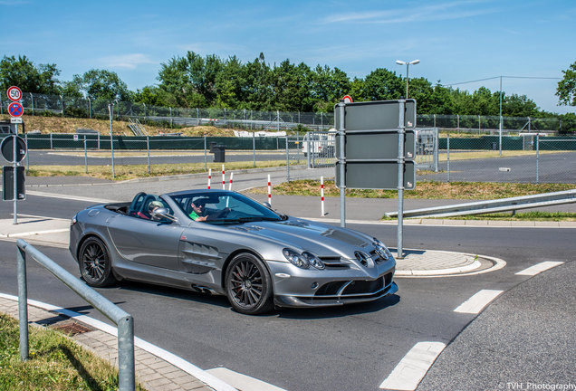
[(327, 319), (341, 318), (350, 315), (361, 315), (365, 313), (378, 312), (395, 306), (400, 302), (400, 296), (393, 294), (385, 298), (357, 303), (345, 304), (336, 307), (320, 307), (305, 309), (280, 309), (277, 310), (278, 317), (284, 319)]

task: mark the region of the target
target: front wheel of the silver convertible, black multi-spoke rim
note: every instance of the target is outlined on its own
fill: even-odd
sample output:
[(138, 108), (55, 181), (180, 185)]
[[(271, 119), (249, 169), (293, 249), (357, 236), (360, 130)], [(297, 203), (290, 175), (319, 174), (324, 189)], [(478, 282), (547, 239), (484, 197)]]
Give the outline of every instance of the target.
[(273, 288), (264, 263), (251, 253), (234, 257), (226, 271), (226, 296), (235, 310), (255, 315), (273, 310)]

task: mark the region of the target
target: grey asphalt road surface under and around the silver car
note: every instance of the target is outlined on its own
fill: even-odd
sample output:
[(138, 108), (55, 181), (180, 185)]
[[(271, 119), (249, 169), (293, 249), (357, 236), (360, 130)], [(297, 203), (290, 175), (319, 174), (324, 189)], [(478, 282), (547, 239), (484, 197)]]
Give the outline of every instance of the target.
[[(70, 217), (89, 204), (38, 196), (30, 196), (28, 201), (19, 204), (19, 211), (53, 217)], [(0, 205), (1, 217), (8, 218), (11, 205)], [(394, 226), (349, 226), (373, 234), (392, 247), (396, 245)], [(398, 278), (398, 294), (384, 300), (334, 309), (275, 310), (258, 317), (235, 313), (224, 297), (135, 282), (98, 291), (134, 316), (140, 338), (198, 367), (227, 367), (292, 391), (377, 389), (419, 341), (449, 344), (437, 366), (425, 377), (422, 389), (496, 389), (503, 380), (521, 380), (524, 369), (533, 368), (528, 358), (514, 361), (516, 355), (530, 354), (522, 350), (522, 344), (527, 343), (524, 335), (530, 335), (544, 351), (563, 351), (558, 357), (546, 358), (556, 364), (546, 379), (563, 381), (571, 376), (573, 366), (567, 364), (571, 363), (568, 355), (573, 350), (565, 347), (576, 344), (573, 332), (562, 334), (560, 330), (569, 327), (569, 321), (574, 324), (573, 314), (568, 313), (572, 312), (573, 289), (564, 291), (564, 295), (549, 291), (551, 284), (557, 282), (573, 286), (573, 264), (532, 280), (514, 273), (542, 261), (571, 262), (576, 251), (576, 230), (405, 226), (404, 237), (405, 248), (479, 253), (502, 258), (507, 266), (466, 277)], [(39, 248), (74, 275), (79, 274), (67, 250)], [(16, 294), (14, 243), (0, 241), (0, 253), (0, 291)], [(31, 299), (107, 321), (35, 262), (28, 262), (28, 279)], [(483, 289), (503, 290), (507, 294), (495, 300), (476, 320), (475, 315), (454, 311)], [(521, 316), (520, 312), (518, 317), (510, 318), (511, 311), (526, 309), (532, 311), (533, 318)], [(545, 323), (538, 320), (540, 316)], [(523, 329), (519, 331), (514, 319), (520, 318)], [(551, 338), (542, 339), (541, 343), (542, 324), (550, 325), (556, 320)], [(552, 339), (552, 335), (557, 338)], [(484, 351), (483, 344), (488, 345)], [(513, 353), (518, 353), (505, 352), (507, 344), (517, 349)], [(470, 347), (478, 352), (477, 358), (472, 357)], [(475, 366), (470, 367), (468, 360)], [(519, 367), (518, 362), (526, 364)], [(474, 379), (482, 381), (474, 383)]]

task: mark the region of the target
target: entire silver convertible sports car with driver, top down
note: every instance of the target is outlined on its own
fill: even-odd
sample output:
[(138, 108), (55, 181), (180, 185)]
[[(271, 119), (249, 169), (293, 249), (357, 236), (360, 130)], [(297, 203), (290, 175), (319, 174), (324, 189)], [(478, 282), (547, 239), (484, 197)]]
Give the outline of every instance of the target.
[(70, 252), (91, 286), (126, 279), (226, 294), (246, 314), (398, 291), (396, 261), (378, 239), (225, 190), (139, 193), (88, 207), (72, 218)]

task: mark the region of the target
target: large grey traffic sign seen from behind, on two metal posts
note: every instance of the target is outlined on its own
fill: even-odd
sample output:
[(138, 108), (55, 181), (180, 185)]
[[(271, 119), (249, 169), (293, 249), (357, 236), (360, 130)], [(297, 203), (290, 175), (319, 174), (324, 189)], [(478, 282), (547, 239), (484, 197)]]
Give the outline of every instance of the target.
[(416, 187), (416, 100), (348, 102), (334, 107), (336, 183), (341, 189), (341, 226), (345, 226), (345, 189), (398, 190), (398, 258), (403, 258), (404, 190)]

